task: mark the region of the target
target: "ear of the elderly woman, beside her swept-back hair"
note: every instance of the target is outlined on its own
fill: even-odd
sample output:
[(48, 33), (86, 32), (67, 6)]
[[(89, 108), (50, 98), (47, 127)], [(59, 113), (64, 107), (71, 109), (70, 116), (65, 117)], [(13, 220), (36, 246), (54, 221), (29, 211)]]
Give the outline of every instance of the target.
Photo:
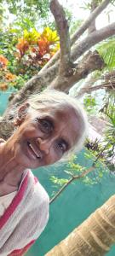
[(20, 126), (23, 123), (26, 119), (29, 107), (30, 104), (26, 102), (18, 108), (17, 116), (14, 118), (14, 126)]

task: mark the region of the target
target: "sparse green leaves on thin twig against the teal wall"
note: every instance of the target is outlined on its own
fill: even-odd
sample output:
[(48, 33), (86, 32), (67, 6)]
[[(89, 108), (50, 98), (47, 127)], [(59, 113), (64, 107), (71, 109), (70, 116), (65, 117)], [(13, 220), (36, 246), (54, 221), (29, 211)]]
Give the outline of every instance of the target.
[[(58, 188), (66, 185), (66, 183), (69, 182), (69, 180), (72, 177), (79, 177), (79, 179), (82, 180), (83, 183), (86, 185), (94, 185), (96, 183), (101, 182), (101, 178), (103, 177), (104, 173), (108, 172), (105, 163), (101, 162), (98, 160), (98, 162), (95, 164), (95, 170), (88, 175), (83, 175), (82, 174), (88, 170), (88, 162), (92, 162), (93, 160), (95, 161), (96, 156), (94, 154), (94, 151), (96, 152), (97, 149), (92, 149), (87, 150), (84, 153), (84, 161), (87, 162), (85, 166), (82, 166), (81, 164), (78, 163), (78, 158), (75, 154), (72, 154), (71, 158), (67, 162), (66, 170), (64, 171), (66, 174), (65, 178), (59, 178), (56, 176), (51, 176), (50, 181), (55, 184)], [(103, 157), (103, 155), (101, 155)], [(76, 178), (75, 178), (76, 179)], [(72, 182), (74, 183), (74, 181)]]

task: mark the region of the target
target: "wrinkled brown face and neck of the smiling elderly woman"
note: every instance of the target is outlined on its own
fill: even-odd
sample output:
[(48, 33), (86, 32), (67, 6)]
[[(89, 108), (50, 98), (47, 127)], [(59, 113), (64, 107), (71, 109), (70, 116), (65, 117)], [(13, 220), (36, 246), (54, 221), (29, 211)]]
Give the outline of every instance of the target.
[[(20, 108), (20, 118), (15, 119), (15, 125), (14, 134), (0, 144), (0, 188), (7, 184), (13, 191), (26, 168), (47, 166), (60, 160), (77, 141), (80, 130), (76, 113), (66, 104), (58, 109), (32, 109), (32, 113), (25, 115)], [(0, 193), (5, 194), (2, 189)]]

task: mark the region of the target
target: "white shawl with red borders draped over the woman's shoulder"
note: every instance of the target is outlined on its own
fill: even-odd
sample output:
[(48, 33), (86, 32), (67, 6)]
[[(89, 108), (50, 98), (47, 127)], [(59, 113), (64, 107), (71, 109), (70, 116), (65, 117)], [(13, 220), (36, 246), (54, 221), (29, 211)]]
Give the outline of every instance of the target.
[(0, 218), (0, 255), (24, 255), (49, 218), (49, 196), (30, 170)]

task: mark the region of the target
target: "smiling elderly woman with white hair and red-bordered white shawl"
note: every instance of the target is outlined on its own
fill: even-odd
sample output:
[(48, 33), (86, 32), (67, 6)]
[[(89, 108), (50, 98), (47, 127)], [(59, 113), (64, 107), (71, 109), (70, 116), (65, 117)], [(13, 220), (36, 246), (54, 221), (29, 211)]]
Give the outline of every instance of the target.
[(81, 147), (86, 118), (76, 100), (56, 90), (15, 110), (14, 134), (0, 141), (0, 255), (24, 255), (49, 218), (49, 196), (31, 169)]

